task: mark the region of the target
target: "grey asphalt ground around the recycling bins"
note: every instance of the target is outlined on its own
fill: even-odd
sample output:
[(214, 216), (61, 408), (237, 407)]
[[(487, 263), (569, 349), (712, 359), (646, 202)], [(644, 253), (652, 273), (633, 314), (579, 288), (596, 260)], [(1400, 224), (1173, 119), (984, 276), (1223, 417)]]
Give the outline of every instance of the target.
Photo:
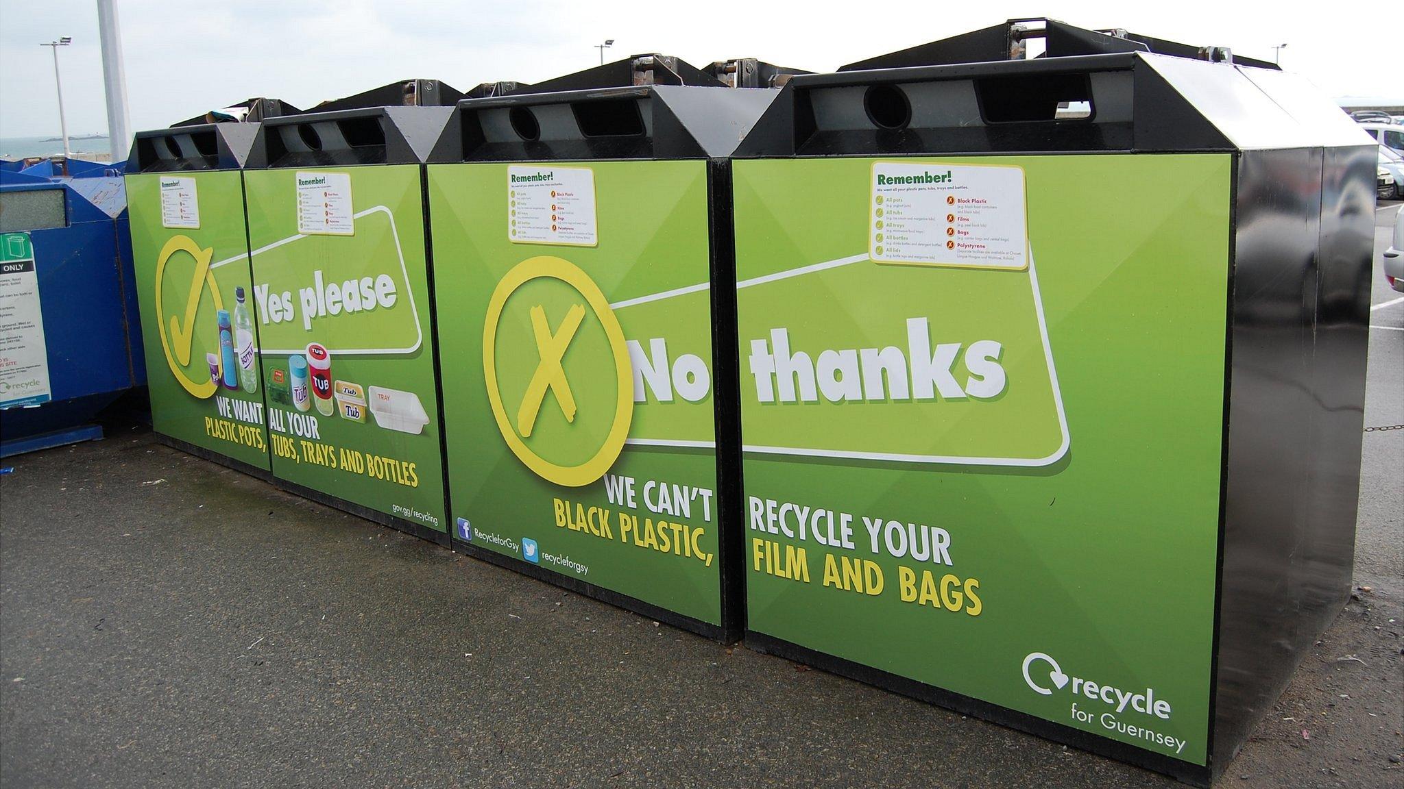
[[(1404, 293), (1376, 274), (1367, 427), (1404, 424)], [(1224, 786), (1404, 785), (1404, 430), (1366, 432), (1362, 462), (1356, 592)], [(143, 430), (3, 465), (6, 788), (1177, 785), (660, 626)]]

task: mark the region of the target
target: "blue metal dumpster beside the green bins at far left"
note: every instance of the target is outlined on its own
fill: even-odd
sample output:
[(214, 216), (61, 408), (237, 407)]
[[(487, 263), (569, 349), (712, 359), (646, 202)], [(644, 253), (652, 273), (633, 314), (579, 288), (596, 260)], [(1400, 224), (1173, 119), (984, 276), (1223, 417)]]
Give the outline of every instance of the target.
[(0, 167), (0, 456), (100, 438), (86, 423), (145, 380), (121, 173)]

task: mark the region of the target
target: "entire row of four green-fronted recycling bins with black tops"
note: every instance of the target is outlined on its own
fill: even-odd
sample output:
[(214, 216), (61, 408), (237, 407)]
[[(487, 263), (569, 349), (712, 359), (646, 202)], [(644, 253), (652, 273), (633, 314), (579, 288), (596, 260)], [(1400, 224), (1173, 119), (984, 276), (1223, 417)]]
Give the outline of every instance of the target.
[(1348, 590), (1352, 126), (1280, 72), (1123, 52), (140, 133), (153, 423), (1206, 782)]

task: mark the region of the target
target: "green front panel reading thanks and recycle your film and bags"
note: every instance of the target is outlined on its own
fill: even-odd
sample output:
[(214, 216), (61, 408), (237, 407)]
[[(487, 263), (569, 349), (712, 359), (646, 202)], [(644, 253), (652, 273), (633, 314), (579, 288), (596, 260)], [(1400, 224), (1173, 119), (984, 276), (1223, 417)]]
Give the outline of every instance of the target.
[(1203, 765), (1231, 167), (736, 161), (748, 630)]

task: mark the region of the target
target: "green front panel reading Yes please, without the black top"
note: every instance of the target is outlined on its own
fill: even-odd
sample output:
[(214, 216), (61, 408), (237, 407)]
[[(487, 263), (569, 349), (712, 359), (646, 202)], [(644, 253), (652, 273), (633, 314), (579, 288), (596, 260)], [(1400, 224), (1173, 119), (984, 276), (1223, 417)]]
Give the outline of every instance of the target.
[[(274, 477), (445, 532), (420, 166), (244, 178)], [(309, 368), (303, 410), (291, 359), (312, 344), (333, 396)]]

